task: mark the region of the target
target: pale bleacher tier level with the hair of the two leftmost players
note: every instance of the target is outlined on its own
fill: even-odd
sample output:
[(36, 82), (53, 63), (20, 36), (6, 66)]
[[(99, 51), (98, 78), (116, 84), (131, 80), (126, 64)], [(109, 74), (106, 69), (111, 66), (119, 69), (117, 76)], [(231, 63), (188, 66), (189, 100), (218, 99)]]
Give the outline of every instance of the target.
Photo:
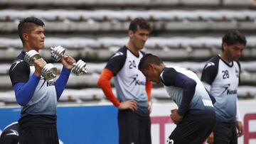
[[(151, 21), (155, 31), (226, 30), (255, 28), (253, 10), (0, 10), (0, 31), (17, 31), (18, 21), (25, 16), (37, 16), (46, 21), (46, 30), (127, 31), (135, 17)], [(171, 23), (170, 23), (171, 22)]]

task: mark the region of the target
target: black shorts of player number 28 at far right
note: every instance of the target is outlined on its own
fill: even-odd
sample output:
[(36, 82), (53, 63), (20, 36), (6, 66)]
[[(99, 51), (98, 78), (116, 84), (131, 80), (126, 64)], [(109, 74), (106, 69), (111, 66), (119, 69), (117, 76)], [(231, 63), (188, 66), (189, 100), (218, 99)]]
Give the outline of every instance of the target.
[(214, 143), (238, 143), (238, 134), (235, 123), (216, 122), (213, 134)]

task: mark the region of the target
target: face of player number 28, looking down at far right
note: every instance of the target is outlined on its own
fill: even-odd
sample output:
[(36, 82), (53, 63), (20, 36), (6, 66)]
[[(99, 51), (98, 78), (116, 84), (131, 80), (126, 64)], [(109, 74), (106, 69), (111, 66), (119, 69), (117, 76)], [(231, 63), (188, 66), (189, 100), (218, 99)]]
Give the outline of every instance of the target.
[(242, 55), (242, 50), (245, 48), (245, 45), (242, 43), (235, 43), (234, 45), (226, 45), (224, 44), (224, 52), (227, 55), (230, 61), (239, 60)]

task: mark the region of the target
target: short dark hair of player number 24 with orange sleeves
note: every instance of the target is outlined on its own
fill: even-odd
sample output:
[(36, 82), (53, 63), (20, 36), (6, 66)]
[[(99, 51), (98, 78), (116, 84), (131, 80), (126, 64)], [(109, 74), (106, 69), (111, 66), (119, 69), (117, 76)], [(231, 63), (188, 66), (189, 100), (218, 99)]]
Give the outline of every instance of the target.
[(137, 28), (142, 28), (148, 31), (151, 31), (151, 26), (148, 21), (146, 21), (144, 18), (135, 18), (131, 21), (129, 24), (129, 31), (133, 31), (134, 33), (137, 31)]

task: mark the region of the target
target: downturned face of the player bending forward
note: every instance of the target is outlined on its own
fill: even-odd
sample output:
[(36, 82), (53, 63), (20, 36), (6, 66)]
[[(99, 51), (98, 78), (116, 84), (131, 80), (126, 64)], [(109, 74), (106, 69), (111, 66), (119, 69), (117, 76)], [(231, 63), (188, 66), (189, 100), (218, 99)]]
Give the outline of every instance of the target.
[(142, 74), (144, 74), (144, 76), (147, 79), (149, 79), (151, 82), (159, 83), (159, 81), (160, 81), (159, 72), (157, 72), (156, 65), (154, 65), (154, 64), (150, 64), (147, 69), (142, 70)]

